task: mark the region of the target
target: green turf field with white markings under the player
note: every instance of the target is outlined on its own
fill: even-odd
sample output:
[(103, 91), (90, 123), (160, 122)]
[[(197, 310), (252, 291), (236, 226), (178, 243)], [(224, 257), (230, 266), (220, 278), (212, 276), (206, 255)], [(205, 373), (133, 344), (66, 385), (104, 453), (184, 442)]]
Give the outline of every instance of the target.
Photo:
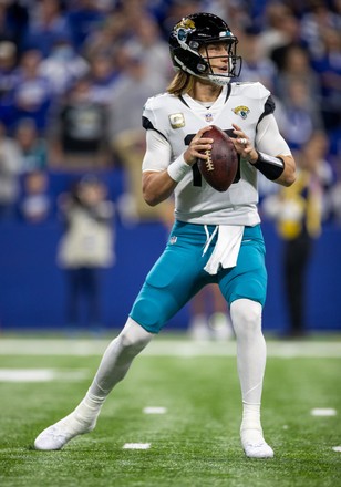
[(0, 340), (1, 487), (341, 486), (340, 339), (268, 341), (262, 423), (272, 459), (240, 448), (235, 343), (169, 338), (136, 359), (93, 433), (35, 452), (37, 434), (82, 398), (106, 343)]

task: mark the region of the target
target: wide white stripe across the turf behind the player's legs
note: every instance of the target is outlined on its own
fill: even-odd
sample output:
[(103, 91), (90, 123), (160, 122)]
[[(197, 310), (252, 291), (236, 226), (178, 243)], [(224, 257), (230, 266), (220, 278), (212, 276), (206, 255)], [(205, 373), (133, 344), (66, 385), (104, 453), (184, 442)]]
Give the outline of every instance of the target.
[[(1, 355), (102, 355), (110, 343), (107, 340), (84, 339), (0, 339)], [(341, 359), (341, 341), (268, 341), (268, 356), (291, 359), (338, 358)], [(146, 356), (235, 356), (236, 343), (204, 342), (157, 338), (142, 352)]]

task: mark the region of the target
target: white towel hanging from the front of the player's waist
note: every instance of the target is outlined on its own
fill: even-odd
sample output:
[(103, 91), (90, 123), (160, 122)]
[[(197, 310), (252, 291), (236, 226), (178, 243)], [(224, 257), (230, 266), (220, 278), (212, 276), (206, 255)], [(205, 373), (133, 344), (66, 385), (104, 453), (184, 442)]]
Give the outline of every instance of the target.
[[(214, 251), (204, 267), (209, 274), (217, 273), (220, 266), (224, 269), (236, 266), (244, 234), (244, 225), (219, 225), (217, 228), (218, 230), (208, 238), (209, 242), (218, 231)], [(206, 253), (207, 248), (208, 245), (205, 246), (203, 255)]]

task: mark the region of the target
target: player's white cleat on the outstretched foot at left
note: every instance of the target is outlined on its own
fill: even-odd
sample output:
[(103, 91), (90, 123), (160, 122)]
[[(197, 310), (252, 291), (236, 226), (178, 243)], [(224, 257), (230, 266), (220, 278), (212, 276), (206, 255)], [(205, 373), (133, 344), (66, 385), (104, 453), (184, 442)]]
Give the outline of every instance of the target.
[(44, 429), (34, 442), (34, 448), (41, 450), (55, 450), (63, 448), (70, 439), (78, 435), (90, 433), (96, 422), (83, 423), (74, 417), (74, 413)]

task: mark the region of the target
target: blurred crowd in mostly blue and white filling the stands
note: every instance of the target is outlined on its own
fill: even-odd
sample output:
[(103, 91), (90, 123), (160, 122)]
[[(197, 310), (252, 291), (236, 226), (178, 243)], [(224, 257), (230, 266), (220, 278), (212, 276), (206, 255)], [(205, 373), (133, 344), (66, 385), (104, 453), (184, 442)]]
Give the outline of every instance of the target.
[[(227, 20), (240, 80), (272, 92), (299, 167), (313, 159), (321, 218), (341, 224), (340, 0), (0, 0), (0, 219), (39, 221), (51, 172), (118, 167), (126, 216), (151, 217), (142, 110), (173, 76), (169, 30), (198, 11)], [(261, 179), (261, 197), (275, 186)]]

